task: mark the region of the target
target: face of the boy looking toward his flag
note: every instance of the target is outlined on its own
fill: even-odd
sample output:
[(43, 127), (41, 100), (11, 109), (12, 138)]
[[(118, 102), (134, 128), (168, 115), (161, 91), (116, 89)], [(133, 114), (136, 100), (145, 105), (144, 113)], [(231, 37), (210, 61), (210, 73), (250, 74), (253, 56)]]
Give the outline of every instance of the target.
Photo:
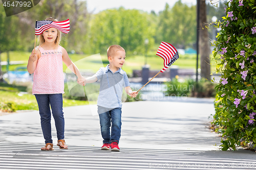
[(125, 62), (125, 51), (119, 50), (109, 57), (109, 62), (112, 66), (121, 68)]

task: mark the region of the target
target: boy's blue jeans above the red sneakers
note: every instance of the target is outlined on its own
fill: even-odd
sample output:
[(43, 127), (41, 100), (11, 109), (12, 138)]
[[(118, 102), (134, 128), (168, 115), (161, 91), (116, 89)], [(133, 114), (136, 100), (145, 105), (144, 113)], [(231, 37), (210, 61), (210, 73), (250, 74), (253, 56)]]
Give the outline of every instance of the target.
[[(113, 110), (100, 113), (99, 114), (99, 123), (101, 136), (103, 138), (103, 143), (119, 143), (121, 136), (121, 108), (115, 108)], [(110, 134), (111, 126), (111, 134)]]

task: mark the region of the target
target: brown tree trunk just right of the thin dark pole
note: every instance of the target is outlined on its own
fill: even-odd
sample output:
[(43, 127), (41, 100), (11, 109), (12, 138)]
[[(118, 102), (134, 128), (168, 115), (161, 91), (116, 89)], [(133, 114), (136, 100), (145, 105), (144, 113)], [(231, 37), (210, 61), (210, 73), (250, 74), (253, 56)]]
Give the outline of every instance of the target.
[(210, 80), (210, 43), (206, 20), (205, 0), (200, 1), (200, 23), (202, 29), (199, 31), (199, 53), (201, 61), (201, 77)]

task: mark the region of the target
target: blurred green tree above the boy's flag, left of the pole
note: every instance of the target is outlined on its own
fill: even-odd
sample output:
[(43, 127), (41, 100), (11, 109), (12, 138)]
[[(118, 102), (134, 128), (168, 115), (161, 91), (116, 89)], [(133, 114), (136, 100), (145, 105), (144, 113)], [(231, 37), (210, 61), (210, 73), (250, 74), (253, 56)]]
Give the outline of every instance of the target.
[(196, 6), (188, 7), (179, 0), (170, 9), (166, 3), (159, 14), (157, 40), (172, 43), (177, 48), (192, 47), (196, 42)]

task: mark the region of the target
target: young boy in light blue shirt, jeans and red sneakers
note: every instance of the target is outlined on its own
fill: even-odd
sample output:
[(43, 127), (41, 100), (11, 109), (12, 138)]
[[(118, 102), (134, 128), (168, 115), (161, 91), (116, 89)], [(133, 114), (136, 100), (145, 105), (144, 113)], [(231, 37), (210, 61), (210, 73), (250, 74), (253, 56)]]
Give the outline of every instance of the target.
[[(120, 45), (111, 45), (107, 51), (110, 64), (101, 67), (95, 75), (86, 78), (84, 85), (100, 80), (98, 96), (98, 114), (100, 119), (101, 136), (103, 138), (102, 150), (120, 151), (118, 147), (121, 136), (121, 96), (122, 87), (133, 98), (137, 91), (132, 91), (126, 72), (121, 69), (125, 62), (125, 51)], [(112, 125), (111, 125), (112, 124)], [(110, 134), (111, 126), (111, 134)]]

